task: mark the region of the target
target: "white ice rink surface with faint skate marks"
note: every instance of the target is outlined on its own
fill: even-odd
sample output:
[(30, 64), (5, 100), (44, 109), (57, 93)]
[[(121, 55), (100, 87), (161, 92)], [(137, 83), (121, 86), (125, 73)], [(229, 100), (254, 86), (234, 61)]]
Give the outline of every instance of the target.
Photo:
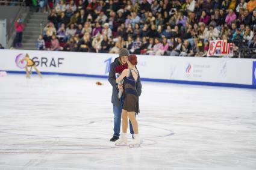
[(142, 146), (128, 148), (109, 141), (107, 79), (0, 77), (0, 169), (256, 168), (256, 90), (142, 85)]

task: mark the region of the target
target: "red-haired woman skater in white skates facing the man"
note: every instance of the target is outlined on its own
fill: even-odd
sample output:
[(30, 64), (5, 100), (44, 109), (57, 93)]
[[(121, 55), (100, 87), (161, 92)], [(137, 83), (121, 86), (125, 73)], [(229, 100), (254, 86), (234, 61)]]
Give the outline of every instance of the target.
[(139, 113), (139, 94), (137, 93), (136, 85), (140, 82), (139, 71), (136, 69), (137, 56), (128, 56), (128, 69), (123, 70), (122, 74), (116, 79), (116, 82), (124, 80), (125, 101), (122, 109), (122, 134), (120, 139), (116, 141), (117, 145), (127, 144), (126, 132), (128, 128), (128, 117), (133, 125), (134, 139), (129, 145), (140, 145), (138, 123), (135, 115)]

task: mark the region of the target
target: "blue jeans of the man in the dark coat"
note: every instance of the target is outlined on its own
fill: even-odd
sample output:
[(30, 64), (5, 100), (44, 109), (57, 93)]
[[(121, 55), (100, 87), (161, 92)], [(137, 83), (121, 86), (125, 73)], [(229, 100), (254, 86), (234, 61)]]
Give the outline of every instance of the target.
[[(114, 136), (118, 136), (118, 137), (120, 135), (121, 115), (122, 115), (122, 108), (123, 108), (124, 100), (125, 100), (125, 97), (122, 97), (119, 107), (113, 105), (113, 111), (114, 111)], [(130, 126), (130, 133), (134, 134), (133, 126), (131, 125), (131, 121), (130, 120), (129, 120), (129, 126)]]

